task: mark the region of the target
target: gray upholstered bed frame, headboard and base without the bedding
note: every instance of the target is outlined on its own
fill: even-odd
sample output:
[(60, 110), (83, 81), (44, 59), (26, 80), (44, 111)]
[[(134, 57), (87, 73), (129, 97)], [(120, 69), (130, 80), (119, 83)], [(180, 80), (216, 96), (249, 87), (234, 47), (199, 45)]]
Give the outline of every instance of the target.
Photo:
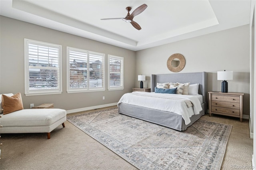
[[(198, 94), (202, 96), (200, 105), (202, 110), (197, 115), (192, 115), (190, 123), (185, 123), (182, 115), (170, 111), (162, 111), (158, 109), (151, 109), (149, 107), (142, 107), (130, 103), (118, 102), (118, 113), (124, 114), (137, 119), (142, 119), (151, 123), (156, 123), (165, 127), (173, 128), (179, 131), (186, 130), (187, 127), (197, 121), (202, 115), (206, 114), (207, 110), (207, 73), (172, 73), (172, 74), (153, 74), (151, 75), (151, 92), (154, 92), (157, 83), (179, 82), (199, 84)], [(134, 92), (133, 92), (134, 93)], [(141, 92), (148, 93), (148, 92)], [(184, 95), (187, 96), (187, 95)], [(122, 98), (121, 98), (122, 99)], [(121, 100), (120, 99), (120, 100)]]

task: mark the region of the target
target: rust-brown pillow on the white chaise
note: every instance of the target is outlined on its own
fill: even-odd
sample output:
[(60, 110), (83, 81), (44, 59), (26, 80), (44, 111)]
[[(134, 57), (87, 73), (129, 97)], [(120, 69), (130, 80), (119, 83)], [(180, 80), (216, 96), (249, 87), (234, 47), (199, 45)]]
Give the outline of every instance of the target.
[(4, 115), (23, 109), (21, 94), (17, 93), (13, 96), (2, 95), (2, 107)]

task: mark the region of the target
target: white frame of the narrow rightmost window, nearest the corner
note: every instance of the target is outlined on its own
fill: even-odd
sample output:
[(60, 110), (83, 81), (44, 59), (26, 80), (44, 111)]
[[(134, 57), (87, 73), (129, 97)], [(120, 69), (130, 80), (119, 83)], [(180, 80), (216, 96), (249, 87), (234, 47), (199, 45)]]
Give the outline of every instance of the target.
[[(110, 71), (110, 58), (114, 58), (114, 59), (120, 59), (122, 61), (121, 67), (122, 67), (122, 85), (120, 86), (110, 86), (110, 73), (112, 71)], [(114, 73), (114, 72), (112, 72)], [(112, 91), (112, 90), (124, 90), (124, 57), (120, 57), (120, 56), (115, 56), (115, 55), (110, 55), (108, 54), (108, 90)]]

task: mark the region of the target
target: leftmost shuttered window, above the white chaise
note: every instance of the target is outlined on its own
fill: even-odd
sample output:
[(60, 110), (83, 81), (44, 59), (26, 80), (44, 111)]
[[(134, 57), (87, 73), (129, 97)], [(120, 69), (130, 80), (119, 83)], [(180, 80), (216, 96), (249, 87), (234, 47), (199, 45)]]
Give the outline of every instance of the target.
[(24, 39), (25, 95), (62, 93), (61, 45)]

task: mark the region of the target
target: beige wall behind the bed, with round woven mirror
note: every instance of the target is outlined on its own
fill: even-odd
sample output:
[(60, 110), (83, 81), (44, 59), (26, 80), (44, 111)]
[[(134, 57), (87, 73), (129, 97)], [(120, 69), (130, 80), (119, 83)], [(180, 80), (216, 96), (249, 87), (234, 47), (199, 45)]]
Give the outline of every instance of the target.
[[(186, 65), (180, 73), (207, 72), (207, 91), (221, 91), (217, 71), (233, 71), (228, 81), (229, 92), (244, 93), (244, 115), (249, 115), (250, 57), (249, 25), (232, 28), (196, 38), (136, 51), (136, 75), (146, 75), (150, 87), (151, 74), (172, 73), (166, 66), (170, 55), (181, 53)], [(139, 87), (139, 82), (135, 82)]]

